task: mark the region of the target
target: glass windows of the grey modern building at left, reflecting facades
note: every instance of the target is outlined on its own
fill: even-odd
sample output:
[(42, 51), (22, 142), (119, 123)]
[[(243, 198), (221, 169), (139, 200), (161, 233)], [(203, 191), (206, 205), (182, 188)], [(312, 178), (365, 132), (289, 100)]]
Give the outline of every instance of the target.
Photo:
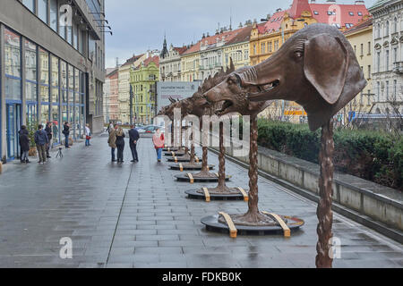
[[(95, 114), (87, 104), (96, 101), (91, 97), (99, 98), (95, 90), (91, 94), (90, 82), (97, 80), (102, 83), (103, 80), (99, 76), (90, 77), (89, 72), (93, 74), (91, 71), (93, 66), (98, 67), (99, 71), (104, 69), (100, 64), (103, 57), (99, 60), (94, 55), (97, 48), (99, 50), (99, 46), (105, 46), (103, 35), (97, 39), (97, 35), (90, 33), (86, 28), (88, 26), (83, 27), (82, 22), (73, 21), (71, 26), (61, 26), (59, 7), (65, 4), (64, 1), (10, 1), (18, 4), (15, 7), (26, 10), (32, 17), (32, 21), (39, 19), (46, 24), (47, 27), (45, 26), (44, 29), (48, 30), (39, 30), (39, 33), (54, 33), (53, 37), (59, 41), (58, 45), (70, 46), (68, 48), (73, 48), (79, 56), (73, 56), (74, 53), (71, 52), (65, 56), (56, 55), (60, 48), (41, 44), (40, 41), (35, 40), (35, 35), (24, 33), (23, 27), (21, 27), (22, 31), (18, 27), (15, 28), (15, 23), (9, 25), (2, 19), (0, 11), (0, 128), (2, 130), (0, 159), (2, 161), (20, 157), (21, 125), (37, 128), (39, 124), (45, 126), (47, 122), (52, 122), (52, 144), (56, 146), (63, 143), (63, 123), (69, 122), (70, 137), (73, 140), (82, 139), (85, 134), (85, 124), (88, 122), (92, 127), (89, 119), (91, 120)], [(101, 11), (99, 0), (75, 2), (73, 7), (74, 4), (90, 4), (90, 11)], [(4, 3), (0, 3), (0, 10), (4, 11), (2, 9)], [(73, 12), (77, 13), (75, 10)], [(87, 17), (92, 16), (87, 15)], [(100, 17), (99, 14), (93, 16), (95, 20), (99, 20)], [(89, 20), (93, 22), (90, 18), (87, 19), (88, 23), (90, 23)], [(98, 24), (93, 25), (96, 27)], [(63, 38), (62, 41), (60, 38)], [(52, 41), (47, 44), (51, 45)], [(65, 50), (68, 51), (68, 48)], [(89, 60), (87, 66), (85, 59)], [(92, 109), (98, 110), (96, 106)]]

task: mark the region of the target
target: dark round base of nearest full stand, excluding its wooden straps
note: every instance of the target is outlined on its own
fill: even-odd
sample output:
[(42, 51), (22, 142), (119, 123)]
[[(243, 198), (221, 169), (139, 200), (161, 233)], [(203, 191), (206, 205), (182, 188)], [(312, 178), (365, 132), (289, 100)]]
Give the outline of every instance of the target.
[[(231, 217), (234, 214), (230, 214)], [(236, 214), (239, 215), (239, 214)], [(201, 219), (201, 223), (206, 226), (207, 231), (215, 231), (228, 233), (229, 228), (227, 223), (221, 223), (221, 219), (219, 218), (221, 215), (215, 214), (203, 217)], [(291, 231), (297, 231), (301, 226), (304, 225), (304, 221), (294, 216), (282, 215), (283, 218), (287, 219), (287, 226)], [(282, 234), (283, 229), (279, 225), (279, 223), (273, 223), (273, 225), (244, 225), (237, 224), (236, 222), (236, 231), (238, 235), (272, 235), (272, 234)]]

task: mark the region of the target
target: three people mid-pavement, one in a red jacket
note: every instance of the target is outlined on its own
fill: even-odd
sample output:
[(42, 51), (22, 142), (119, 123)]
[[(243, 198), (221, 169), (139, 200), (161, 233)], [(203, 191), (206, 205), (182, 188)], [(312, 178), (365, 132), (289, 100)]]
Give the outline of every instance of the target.
[[(121, 126), (117, 124), (115, 125), (111, 124), (107, 128), (107, 131), (109, 132), (109, 138), (107, 139), (107, 143), (111, 148), (112, 162), (124, 163), (124, 138), (125, 138), (124, 130), (122, 129)], [(129, 142), (130, 142), (129, 145), (133, 156), (133, 160), (131, 161), (132, 163), (139, 162), (139, 156), (137, 154), (137, 143), (139, 142), (139, 139), (140, 139), (139, 131), (137, 131), (134, 128), (134, 125), (131, 125), (129, 130)], [(161, 131), (157, 129), (152, 137), (152, 142), (157, 151), (157, 160), (158, 162), (161, 162), (162, 148), (165, 146), (164, 133), (161, 133)], [(117, 161), (115, 156), (116, 148), (117, 148)]]

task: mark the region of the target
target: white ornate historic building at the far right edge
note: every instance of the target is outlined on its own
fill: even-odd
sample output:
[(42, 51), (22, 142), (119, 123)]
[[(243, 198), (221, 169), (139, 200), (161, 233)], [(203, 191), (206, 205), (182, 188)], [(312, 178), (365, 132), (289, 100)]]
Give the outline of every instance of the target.
[(380, 0), (373, 14), (373, 114), (403, 112), (403, 1)]

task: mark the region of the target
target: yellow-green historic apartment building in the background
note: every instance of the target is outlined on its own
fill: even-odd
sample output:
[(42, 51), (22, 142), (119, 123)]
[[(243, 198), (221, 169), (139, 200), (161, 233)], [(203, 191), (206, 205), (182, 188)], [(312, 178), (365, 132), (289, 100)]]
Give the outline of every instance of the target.
[(130, 84), (133, 90), (133, 122), (142, 124), (153, 122), (157, 114), (156, 84), (158, 81), (159, 55), (150, 55), (137, 67), (132, 67)]

